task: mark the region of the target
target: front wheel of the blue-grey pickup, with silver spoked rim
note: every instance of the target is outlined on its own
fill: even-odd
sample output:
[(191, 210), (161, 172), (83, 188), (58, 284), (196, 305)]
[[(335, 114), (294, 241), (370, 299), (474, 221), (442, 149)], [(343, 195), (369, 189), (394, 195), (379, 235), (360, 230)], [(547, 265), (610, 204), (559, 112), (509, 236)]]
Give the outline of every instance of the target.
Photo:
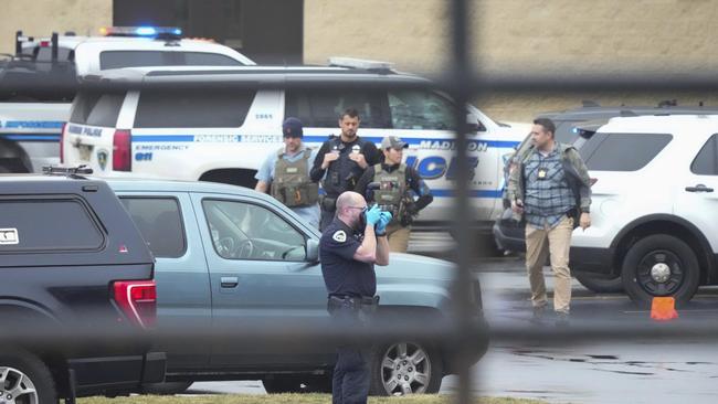
[(370, 394), (436, 393), (442, 378), (442, 360), (435, 349), (416, 342), (392, 343), (374, 351)]

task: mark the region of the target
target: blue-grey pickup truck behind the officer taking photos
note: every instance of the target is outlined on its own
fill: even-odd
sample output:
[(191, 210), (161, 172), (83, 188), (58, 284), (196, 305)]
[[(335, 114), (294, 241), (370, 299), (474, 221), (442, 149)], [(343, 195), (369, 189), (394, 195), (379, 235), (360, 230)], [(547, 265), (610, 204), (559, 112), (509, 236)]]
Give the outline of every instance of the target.
[[(327, 291), (318, 261), (320, 234), (276, 200), (253, 190), (210, 182), (108, 180), (156, 256), (158, 328), (217, 329), (257, 321), (328, 323)], [(453, 264), (392, 254), (377, 267), (377, 317), (401, 326), (420, 321), (441, 330), (451, 317)], [(478, 279), (472, 284), (474, 325), (485, 329)], [(288, 326), (287, 326), (288, 327)], [(395, 331), (395, 330), (394, 330)], [(165, 385), (149, 392), (176, 393), (199, 380), (264, 381), (268, 392), (330, 391), (335, 348), (294, 351), (294, 334), (281, 347), (240, 339), (168, 343)], [(454, 347), (418, 332), (373, 347), (371, 392), (434, 393), (455, 372)], [(468, 354), (486, 352), (477, 338)], [(393, 337), (391, 337), (393, 338)], [(244, 341), (244, 342), (240, 342)], [(427, 342), (429, 341), (429, 342)], [(165, 347), (163, 347), (165, 348)]]

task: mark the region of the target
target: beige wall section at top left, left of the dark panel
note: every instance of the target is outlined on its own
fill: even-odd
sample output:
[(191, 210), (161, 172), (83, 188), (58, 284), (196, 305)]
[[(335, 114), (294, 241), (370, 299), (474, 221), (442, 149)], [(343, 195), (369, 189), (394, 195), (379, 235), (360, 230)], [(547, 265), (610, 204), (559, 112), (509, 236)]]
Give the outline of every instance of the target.
[(112, 22), (112, 0), (2, 0), (0, 53), (14, 53), (18, 30), (35, 38), (50, 38), (53, 31), (96, 35)]

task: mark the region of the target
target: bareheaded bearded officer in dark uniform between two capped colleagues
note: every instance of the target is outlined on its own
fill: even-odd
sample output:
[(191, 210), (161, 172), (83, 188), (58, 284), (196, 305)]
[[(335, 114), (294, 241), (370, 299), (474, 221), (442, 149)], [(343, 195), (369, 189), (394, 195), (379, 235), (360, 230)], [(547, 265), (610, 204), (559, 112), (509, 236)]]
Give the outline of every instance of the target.
[(321, 231), (334, 220), (337, 196), (344, 191), (353, 191), (367, 167), (380, 159), (374, 143), (357, 136), (359, 113), (356, 109), (349, 108), (341, 114), (339, 127), (341, 136), (332, 136), (321, 145), (310, 172), (312, 181), (321, 181), (326, 193), (319, 201)]

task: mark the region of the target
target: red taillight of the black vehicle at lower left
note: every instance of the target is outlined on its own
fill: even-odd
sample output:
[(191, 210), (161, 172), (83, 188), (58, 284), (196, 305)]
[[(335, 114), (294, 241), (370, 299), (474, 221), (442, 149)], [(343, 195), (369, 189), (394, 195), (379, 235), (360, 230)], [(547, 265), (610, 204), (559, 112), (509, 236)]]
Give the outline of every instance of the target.
[(155, 327), (157, 286), (155, 280), (118, 280), (113, 284), (115, 301), (127, 319), (142, 328)]

